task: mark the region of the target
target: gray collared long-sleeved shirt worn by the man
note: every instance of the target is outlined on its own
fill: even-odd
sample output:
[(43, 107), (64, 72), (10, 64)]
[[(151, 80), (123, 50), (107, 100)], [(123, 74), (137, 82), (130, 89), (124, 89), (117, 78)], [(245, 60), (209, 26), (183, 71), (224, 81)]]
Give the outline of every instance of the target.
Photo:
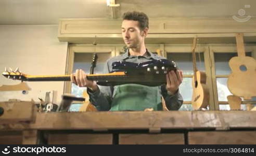
[[(104, 68), (104, 73), (109, 73), (112, 71), (112, 63), (116, 61), (127, 61), (134, 63), (143, 63), (153, 59), (165, 59), (159, 55), (152, 54), (148, 50), (143, 56), (130, 56), (129, 50), (122, 55), (112, 57), (107, 60), (107, 64)], [(174, 95), (169, 95), (166, 89), (166, 85), (161, 85), (158, 87), (159, 92), (163, 96), (165, 100), (165, 105), (169, 110), (178, 110), (183, 103), (183, 97), (180, 94), (180, 91)], [(108, 111), (111, 108), (111, 101), (113, 99), (114, 86), (99, 86), (99, 89), (95, 92), (92, 92), (89, 88), (87, 88), (87, 93), (90, 97), (90, 101), (99, 111)], [(160, 97), (159, 97), (160, 98)]]

